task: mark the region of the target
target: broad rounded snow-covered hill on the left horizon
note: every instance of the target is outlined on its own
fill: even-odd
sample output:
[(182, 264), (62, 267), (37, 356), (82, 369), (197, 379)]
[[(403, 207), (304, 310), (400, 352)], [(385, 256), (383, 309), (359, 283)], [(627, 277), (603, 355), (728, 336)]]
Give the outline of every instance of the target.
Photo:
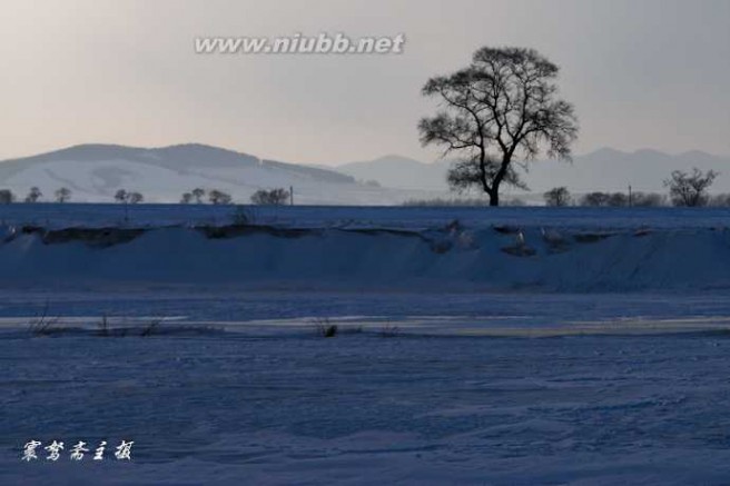
[(334, 170), (262, 160), (204, 145), (157, 149), (82, 145), (34, 157), (0, 161), (0, 188), (23, 197), (31, 187), (46, 196), (67, 187), (72, 199), (108, 202), (120, 189), (141, 192), (147, 201), (177, 202), (194, 188), (219, 189), (248, 202), (259, 188), (294, 188), (297, 204), (399, 204), (420, 191), (357, 184)]

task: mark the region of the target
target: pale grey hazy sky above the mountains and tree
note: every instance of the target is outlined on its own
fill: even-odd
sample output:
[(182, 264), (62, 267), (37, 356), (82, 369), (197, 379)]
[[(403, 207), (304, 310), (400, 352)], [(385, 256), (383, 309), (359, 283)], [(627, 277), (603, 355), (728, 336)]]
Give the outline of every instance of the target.
[[(338, 31), (403, 32), (404, 52), (194, 52), (198, 36)], [(2, 0), (0, 159), (195, 141), (304, 163), (433, 160), (421, 87), (482, 46), (562, 67), (576, 153), (730, 155), (729, 0)]]

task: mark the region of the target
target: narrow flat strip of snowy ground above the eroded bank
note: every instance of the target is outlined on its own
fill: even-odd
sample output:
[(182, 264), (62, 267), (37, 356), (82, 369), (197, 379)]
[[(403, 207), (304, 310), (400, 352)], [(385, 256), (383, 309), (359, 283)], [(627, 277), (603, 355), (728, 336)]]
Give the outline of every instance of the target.
[[(294, 227), (433, 228), (455, 219), (472, 228), (493, 225), (584, 229), (712, 228), (730, 225), (728, 208), (487, 208), (367, 206), (241, 206), (255, 222)], [(46, 227), (162, 226), (230, 222), (237, 207), (210, 205), (38, 204), (0, 206), (0, 224)], [(128, 218), (125, 221), (125, 218)]]

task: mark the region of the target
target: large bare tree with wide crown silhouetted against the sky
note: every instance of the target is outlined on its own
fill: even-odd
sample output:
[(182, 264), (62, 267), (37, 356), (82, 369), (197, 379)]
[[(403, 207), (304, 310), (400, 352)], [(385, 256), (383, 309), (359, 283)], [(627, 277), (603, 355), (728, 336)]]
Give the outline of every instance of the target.
[(421, 142), (458, 153), (448, 171), (453, 189), (477, 187), (499, 206), (503, 182), (526, 188), (515, 158), (526, 163), (544, 151), (571, 159), (578, 121), (573, 106), (558, 98), (558, 71), (533, 49), (485, 47), (467, 68), (426, 82), (423, 95), (442, 109), (418, 123)]

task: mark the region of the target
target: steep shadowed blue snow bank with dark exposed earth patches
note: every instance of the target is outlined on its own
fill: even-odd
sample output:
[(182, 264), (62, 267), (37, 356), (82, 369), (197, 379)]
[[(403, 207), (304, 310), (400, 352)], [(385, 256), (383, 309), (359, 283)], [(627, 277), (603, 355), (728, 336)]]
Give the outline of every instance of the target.
[(723, 228), (160, 227), (0, 230), (6, 286), (625, 291), (730, 288)]

